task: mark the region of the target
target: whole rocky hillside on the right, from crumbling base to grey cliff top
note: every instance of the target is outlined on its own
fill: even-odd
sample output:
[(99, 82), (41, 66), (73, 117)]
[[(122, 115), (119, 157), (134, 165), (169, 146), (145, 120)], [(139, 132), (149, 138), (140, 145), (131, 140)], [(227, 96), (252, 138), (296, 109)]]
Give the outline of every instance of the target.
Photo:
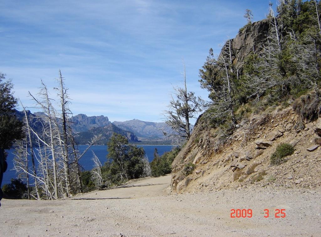
[[(313, 8), (311, 9), (313, 13)], [(310, 13), (306, 12), (304, 14), (308, 15)], [(284, 15), (281, 17), (283, 17), (283, 20), (285, 19)], [(252, 185), (272, 188), (321, 187), (321, 118), (318, 118), (321, 108), (321, 97), (319, 96), (320, 91), (318, 88), (320, 86), (320, 77), (318, 76), (320, 68), (317, 65), (316, 73), (311, 74), (313, 75), (311, 76), (313, 81), (316, 81), (314, 82), (315, 88), (311, 93), (308, 93), (308, 90), (312, 91), (313, 88), (308, 84), (307, 74), (295, 74), (290, 72), (290, 68), (288, 68), (292, 66), (293, 72), (297, 72), (295, 71), (298, 69), (297, 65), (305, 65), (306, 62), (295, 61), (297, 52), (287, 54), (287, 59), (291, 58), (292, 61), (287, 61), (281, 67), (284, 74), (279, 73), (278, 75), (282, 76), (276, 76), (275, 74), (275, 72), (280, 71), (273, 71), (270, 74), (266, 71), (263, 73), (265, 66), (254, 70), (253, 65), (258, 62), (255, 60), (262, 55), (265, 57), (260, 59), (260, 63), (263, 63), (261, 65), (270, 65), (269, 69), (273, 68), (271, 65), (280, 65), (271, 62), (269, 62), (270, 64), (264, 64), (269, 58), (266, 58), (262, 48), (267, 41), (267, 35), (273, 31), (271, 20), (273, 18), (246, 25), (239, 30), (234, 39), (228, 40), (223, 47), (221, 55), (226, 55), (226, 49), (230, 49), (232, 59), (230, 67), (237, 69), (233, 71), (234, 74), (237, 74), (236, 77), (233, 77), (233, 73), (229, 75), (234, 85), (239, 86), (239, 84), (242, 84), (241, 80), (248, 80), (249, 82), (248, 84), (244, 83), (244, 87), (235, 87), (235, 91), (230, 94), (230, 99), (235, 94), (252, 89), (248, 85), (253, 85), (251, 78), (255, 76), (257, 78), (275, 77), (277, 81), (291, 81), (295, 78), (302, 85), (306, 83), (305, 86), (300, 83), (296, 84), (292, 80), (291, 85), (282, 84), (289, 88), (291, 87), (288, 92), (286, 92), (285, 86), (279, 89), (276, 83), (270, 87), (272, 89), (266, 89), (260, 95), (245, 93), (242, 99), (235, 99), (238, 103), (235, 103), (237, 104), (235, 107), (233, 107), (234, 104), (231, 106), (232, 109), (230, 109), (229, 116), (231, 117), (231, 114), (233, 114), (233, 119), (235, 120), (230, 119), (229, 121), (227, 116), (227, 119), (221, 117), (221, 119), (225, 119), (222, 122), (217, 116), (213, 122), (213, 117), (211, 118), (210, 114), (219, 114), (218, 112), (220, 111), (213, 109), (213, 106), (209, 107), (209, 110), (198, 119), (193, 134), (172, 164), (173, 171), (170, 185), (172, 192), (239, 189)], [(281, 19), (278, 18), (278, 21), (281, 22)], [(300, 22), (304, 23), (305, 21), (300, 20)], [(309, 23), (309, 21), (307, 22)], [(309, 33), (308, 28), (305, 30), (306, 33)], [(287, 43), (290, 45), (292, 35), (286, 31), (280, 30), (280, 32), (282, 32), (280, 33), (282, 37), (284, 34), (281, 42), (282, 46), (285, 47)], [(297, 36), (300, 36), (301, 32), (303, 32), (302, 29), (301, 31), (298, 30), (296, 32)], [(289, 35), (286, 36), (286, 34)], [(304, 41), (304, 38), (300, 37)], [(297, 47), (296, 49), (300, 49), (298, 45), (294, 46)], [(286, 50), (282, 50), (279, 50), (279, 53), (281, 52), (279, 56), (283, 60), (281, 61), (285, 62), (287, 60), (284, 56), (286, 55)], [(317, 50), (316, 52), (320, 53)], [(250, 55), (251, 52), (254, 52), (252, 55), (256, 59)], [(263, 54), (261, 55), (260, 52), (263, 52)], [(247, 61), (251, 57), (252, 61)], [(219, 84), (224, 80), (224, 77), (220, 77), (218, 73), (221, 69), (220, 66), (217, 66), (218, 63), (211, 64), (210, 59), (211, 57), (207, 58), (206, 63), (208, 64), (205, 63), (203, 67), (202, 79), (204, 83), (202, 86), (212, 93), (214, 89), (220, 89), (215, 83)], [(275, 60), (277, 61), (277, 59)], [(278, 61), (278, 63), (281, 61)], [(213, 66), (214, 69), (212, 70), (208, 65)], [(251, 69), (251, 67), (253, 68)], [(278, 68), (278, 70), (281, 69)], [(247, 77), (244, 77), (245, 73), (242, 73), (242, 71), (246, 70)], [(307, 70), (301, 70), (300, 72)], [(234, 80), (234, 78), (236, 79)], [(262, 80), (261, 83), (265, 83), (265, 81)], [(258, 83), (259, 86), (260, 83)], [(278, 90), (279, 92), (276, 93)], [(213, 94), (212, 96), (215, 99), (216, 94)], [(257, 97), (255, 98), (253, 95)], [(299, 97), (300, 95), (306, 95), (306, 97)], [(213, 100), (213, 102), (219, 103), (220, 101)], [(293, 104), (301, 102), (303, 104), (306, 103), (305, 107), (301, 106), (299, 108), (300, 111), (297, 108), (294, 110), (295, 106)], [(241, 110), (244, 111), (240, 112)], [(234, 113), (236, 114), (235, 117)], [(286, 156), (281, 164), (273, 164), (271, 155), (277, 148), (280, 148), (279, 145), (281, 144), (283, 147), (288, 146), (289, 150), (294, 150), (294, 152)]]

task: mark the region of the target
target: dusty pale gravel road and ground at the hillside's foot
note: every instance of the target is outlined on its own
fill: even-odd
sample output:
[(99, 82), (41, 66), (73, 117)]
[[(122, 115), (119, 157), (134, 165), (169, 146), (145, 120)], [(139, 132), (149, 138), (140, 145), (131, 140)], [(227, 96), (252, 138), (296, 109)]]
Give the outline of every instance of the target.
[[(67, 200), (4, 199), (0, 236), (321, 236), (320, 189), (166, 195), (170, 178)], [(232, 208), (251, 208), (253, 217), (231, 218)], [(286, 209), (285, 218), (274, 217), (277, 208)]]

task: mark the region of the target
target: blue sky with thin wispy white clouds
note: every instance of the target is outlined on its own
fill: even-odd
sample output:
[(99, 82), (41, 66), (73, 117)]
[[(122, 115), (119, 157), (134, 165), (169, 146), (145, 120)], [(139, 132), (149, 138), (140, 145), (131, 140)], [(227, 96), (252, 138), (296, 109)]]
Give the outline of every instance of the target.
[(0, 0), (0, 72), (33, 112), (28, 91), (41, 79), (52, 89), (61, 69), (74, 114), (162, 122), (173, 86), (182, 86), (182, 58), (187, 89), (207, 99), (198, 70), (209, 49), (218, 54), (247, 23), (245, 10), (258, 21), (268, 3)]

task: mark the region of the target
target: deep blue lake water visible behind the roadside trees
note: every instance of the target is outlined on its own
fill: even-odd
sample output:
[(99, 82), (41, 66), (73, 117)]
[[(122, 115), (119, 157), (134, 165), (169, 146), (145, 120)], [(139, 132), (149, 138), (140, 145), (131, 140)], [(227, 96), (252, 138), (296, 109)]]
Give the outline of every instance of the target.
[[(87, 145), (79, 145), (78, 149), (80, 153), (82, 153), (88, 146)], [(173, 146), (160, 146), (160, 145), (137, 145), (137, 147), (143, 147), (146, 153), (146, 156), (148, 160), (151, 162), (154, 158), (154, 151), (155, 148), (158, 150), (158, 154), (161, 156), (164, 154), (164, 152), (170, 151)], [(99, 158), (101, 164), (104, 164), (107, 159), (106, 156), (108, 154), (107, 152), (107, 146), (91, 146), (91, 148), (83, 155), (83, 157), (79, 160), (80, 165), (82, 165), (84, 170), (91, 170), (93, 168), (93, 162), (91, 160), (92, 158), (92, 151), (95, 152), (96, 156)], [(6, 183), (10, 183), (11, 179), (14, 179), (17, 177), (15, 170), (13, 170), (13, 152), (14, 149), (7, 150), (8, 157), (8, 169), (4, 173), (2, 185)], [(31, 161), (29, 163), (31, 165)]]

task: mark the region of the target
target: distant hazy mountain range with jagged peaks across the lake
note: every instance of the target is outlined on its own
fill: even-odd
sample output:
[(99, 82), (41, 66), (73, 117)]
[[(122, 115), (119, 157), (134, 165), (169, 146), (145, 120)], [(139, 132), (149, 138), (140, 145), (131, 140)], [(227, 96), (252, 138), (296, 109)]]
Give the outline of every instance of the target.
[[(16, 116), (20, 120), (24, 120), (23, 111), (16, 110)], [(27, 110), (27, 116), (32, 129), (40, 133), (42, 125), (39, 120), (44, 120), (45, 114), (42, 112), (31, 113)], [(57, 119), (57, 121), (59, 123), (61, 120)], [(138, 119), (111, 123), (107, 116), (77, 114), (72, 116), (69, 121), (78, 144), (88, 144), (94, 135), (102, 134), (97, 144), (104, 145), (114, 132), (126, 136), (130, 143), (170, 144), (171, 140), (167, 138), (167, 135), (173, 133), (171, 127), (166, 123), (145, 122)]]

